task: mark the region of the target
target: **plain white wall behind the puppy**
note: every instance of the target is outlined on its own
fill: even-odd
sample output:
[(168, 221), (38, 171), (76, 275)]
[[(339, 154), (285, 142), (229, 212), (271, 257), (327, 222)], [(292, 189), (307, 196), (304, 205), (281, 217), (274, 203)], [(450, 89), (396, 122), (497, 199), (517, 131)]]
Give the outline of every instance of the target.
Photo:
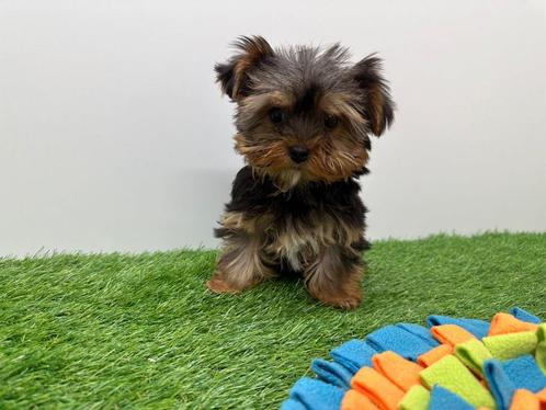
[(545, 4), (0, 0), (0, 255), (215, 246), (239, 34), (385, 58), (371, 238), (545, 230)]

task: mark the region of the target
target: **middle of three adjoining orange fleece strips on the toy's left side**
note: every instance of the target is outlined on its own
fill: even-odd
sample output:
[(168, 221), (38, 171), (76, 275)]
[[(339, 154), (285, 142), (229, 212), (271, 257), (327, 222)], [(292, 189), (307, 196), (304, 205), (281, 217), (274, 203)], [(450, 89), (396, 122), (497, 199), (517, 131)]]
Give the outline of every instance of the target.
[(351, 387), (366, 395), (384, 410), (397, 410), (403, 399), (403, 391), (372, 367), (362, 367), (352, 380)]

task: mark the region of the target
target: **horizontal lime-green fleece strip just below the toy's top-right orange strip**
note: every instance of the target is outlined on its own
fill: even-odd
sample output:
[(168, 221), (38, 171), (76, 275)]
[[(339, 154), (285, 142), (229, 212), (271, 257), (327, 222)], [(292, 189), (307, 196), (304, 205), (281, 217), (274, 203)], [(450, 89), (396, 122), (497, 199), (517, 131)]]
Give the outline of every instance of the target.
[(538, 341), (536, 332), (517, 332), (486, 337), (481, 340), (494, 358), (508, 361), (533, 353)]

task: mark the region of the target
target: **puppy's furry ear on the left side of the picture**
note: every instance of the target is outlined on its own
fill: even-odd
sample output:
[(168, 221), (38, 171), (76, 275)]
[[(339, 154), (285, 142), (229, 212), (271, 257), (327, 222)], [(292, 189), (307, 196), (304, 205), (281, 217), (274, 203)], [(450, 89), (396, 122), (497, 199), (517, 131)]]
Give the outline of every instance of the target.
[(217, 64), (214, 70), (221, 91), (231, 100), (237, 101), (249, 93), (249, 70), (272, 57), (274, 52), (261, 36), (241, 36), (234, 43), (234, 46), (238, 53), (227, 62)]

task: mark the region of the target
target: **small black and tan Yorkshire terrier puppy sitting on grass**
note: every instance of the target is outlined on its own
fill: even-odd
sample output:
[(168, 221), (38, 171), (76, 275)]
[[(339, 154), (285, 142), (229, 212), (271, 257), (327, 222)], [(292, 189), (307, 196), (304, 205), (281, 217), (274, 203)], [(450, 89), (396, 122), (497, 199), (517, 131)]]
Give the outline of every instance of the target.
[(231, 101), (235, 149), (247, 166), (215, 235), (224, 240), (215, 293), (238, 293), (282, 272), (298, 272), (323, 304), (361, 303), (369, 135), (393, 123), (380, 59), (355, 65), (340, 45), (273, 49), (240, 37), (237, 55), (215, 67)]

